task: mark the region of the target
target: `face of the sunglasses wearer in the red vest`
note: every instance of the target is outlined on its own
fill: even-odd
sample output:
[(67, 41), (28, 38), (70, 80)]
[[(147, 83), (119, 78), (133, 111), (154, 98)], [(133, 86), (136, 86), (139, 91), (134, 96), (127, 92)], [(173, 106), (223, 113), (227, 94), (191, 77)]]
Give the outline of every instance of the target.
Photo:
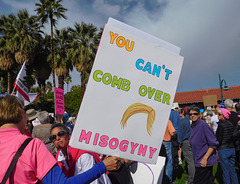
[(63, 130), (59, 127), (55, 127), (51, 131), (51, 136), (56, 135), (56, 139), (53, 140), (53, 144), (57, 149), (67, 148), (69, 140), (70, 140), (70, 135), (69, 134), (65, 133), (63, 136), (58, 135), (59, 132), (62, 132), (62, 131)]

